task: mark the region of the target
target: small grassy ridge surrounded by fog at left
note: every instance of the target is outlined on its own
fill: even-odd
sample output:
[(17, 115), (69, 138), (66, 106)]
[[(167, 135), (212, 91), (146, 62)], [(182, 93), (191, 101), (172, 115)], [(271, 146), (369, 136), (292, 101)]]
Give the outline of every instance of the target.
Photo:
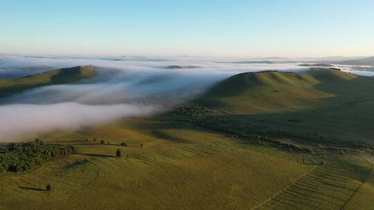
[(39, 86), (77, 82), (80, 79), (92, 77), (95, 73), (96, 71), (93, 66), (76, 66), (73, 68), (50, 70), (26, 77), (0, 79), (0, 97)]

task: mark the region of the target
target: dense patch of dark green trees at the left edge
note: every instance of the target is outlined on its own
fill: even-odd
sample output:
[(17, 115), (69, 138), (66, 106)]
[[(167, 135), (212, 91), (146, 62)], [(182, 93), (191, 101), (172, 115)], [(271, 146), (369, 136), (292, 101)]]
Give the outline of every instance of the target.
[(54, 158), (76, 153), (76, 149), (68, 144), (44, 144), (40, 140), (26, 143), (8, 144), (0, 153), (0, 172), (24, 172), (42, 166), (44, 162)]

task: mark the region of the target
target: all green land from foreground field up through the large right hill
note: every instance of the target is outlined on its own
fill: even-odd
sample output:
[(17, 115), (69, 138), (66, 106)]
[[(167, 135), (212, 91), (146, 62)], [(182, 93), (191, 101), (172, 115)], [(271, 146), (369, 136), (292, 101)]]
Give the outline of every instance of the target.
[(244, 73), (175, 111), (44, 133), (78, 151), (0, 173), (0, 209), (373, 209), (373, 82)]

